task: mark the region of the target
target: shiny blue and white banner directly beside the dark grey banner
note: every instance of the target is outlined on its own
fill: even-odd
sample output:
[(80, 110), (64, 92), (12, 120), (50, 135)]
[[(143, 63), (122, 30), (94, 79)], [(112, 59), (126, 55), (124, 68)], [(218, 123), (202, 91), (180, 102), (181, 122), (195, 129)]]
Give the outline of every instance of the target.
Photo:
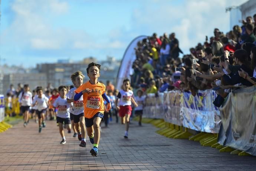
[(218, 133), (220, 129), (220, 111), (213, 105), (216, 92), (199, 91), (196, 96), (190, 92), (181, 94), (181, 111), (183, 126), (196, 131)]

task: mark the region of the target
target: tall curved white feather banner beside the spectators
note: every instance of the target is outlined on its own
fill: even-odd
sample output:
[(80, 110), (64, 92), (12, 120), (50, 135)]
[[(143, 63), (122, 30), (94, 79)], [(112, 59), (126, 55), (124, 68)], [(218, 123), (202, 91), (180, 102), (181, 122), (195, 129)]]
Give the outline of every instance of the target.
[(129, 46), (126, 48), (124, 52), (124, 56), (121, 61), (121, 65), (118, 70), (117, 78), (116, 78), (116, 89), (121, 89), (123, 80), (125, 78), (131, 79), (132, 75), (132, 63), (136, 59), (136, 54), (134, 48), (137, 47), (137, 43), (142, 39), (147, 38), (147, 36), (138, 36), (132, 40)]

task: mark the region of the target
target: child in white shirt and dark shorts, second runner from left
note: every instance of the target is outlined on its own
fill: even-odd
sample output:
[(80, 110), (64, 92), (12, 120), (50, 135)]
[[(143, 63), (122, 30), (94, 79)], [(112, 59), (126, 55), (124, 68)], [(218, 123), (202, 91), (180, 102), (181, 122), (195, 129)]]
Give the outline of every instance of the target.
[(36, 90), (37, 96), (33, 99), (33, 105), (37, 105), (36, 114), (38, 116), (39, 133), (42, 131), (42, 126), (45, 127), (45, 114), (47, 106), (49, 106), (49, 99), (43, 94), (43, 89)]

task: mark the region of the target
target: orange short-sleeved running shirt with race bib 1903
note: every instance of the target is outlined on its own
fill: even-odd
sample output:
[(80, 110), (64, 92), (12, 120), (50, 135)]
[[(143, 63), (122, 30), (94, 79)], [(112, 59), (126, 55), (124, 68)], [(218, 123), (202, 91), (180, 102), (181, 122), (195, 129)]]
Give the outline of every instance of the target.
[(97, 112), (104, 114), (104, 100), (102, 94), (105, 93), (106, 86), (100, 82), (91, 84), (89, 81), (75, 90), (80, 93), (86, 88), (92, 90), (91, 93), (83, 93), (83, 107), (85, 118), (92, 118)]

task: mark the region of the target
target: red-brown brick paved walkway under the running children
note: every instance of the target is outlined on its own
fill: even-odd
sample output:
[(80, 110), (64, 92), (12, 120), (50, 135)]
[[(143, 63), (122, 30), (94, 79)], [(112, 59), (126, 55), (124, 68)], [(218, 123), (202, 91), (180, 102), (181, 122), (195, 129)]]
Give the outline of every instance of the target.
[(89, 171), (188, 171), (188, 170), (256, 170), (255, 157), (239, 157), (220, 153), (198, 142), (170, 139), (155, 133), (150, 124), (137, 126), (133, 121), (129, 139), (124, 139), (124, 125), (110, 124), (102, 128), (98, 157), (92, 157), (88, 137), (87, 147), (79, 147), (73, 134), (61, 141), (55, 121), (47, 121), (38, 133), (38, 126), (30, 121), (0, 133), (0, 171), (9, 170), (89, 170)]

